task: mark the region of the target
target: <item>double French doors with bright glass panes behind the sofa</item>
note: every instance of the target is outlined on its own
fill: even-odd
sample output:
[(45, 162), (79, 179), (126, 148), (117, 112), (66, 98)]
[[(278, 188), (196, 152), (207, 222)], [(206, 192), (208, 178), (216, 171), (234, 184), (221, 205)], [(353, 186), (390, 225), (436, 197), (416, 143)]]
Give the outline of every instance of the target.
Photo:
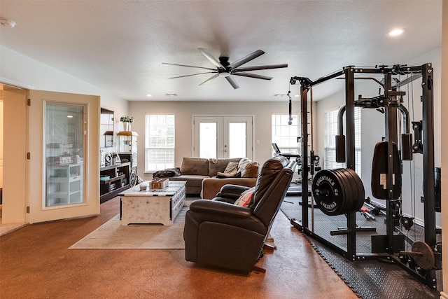
[(253, 158), (253, 116), (193, 116), (195, 157)]

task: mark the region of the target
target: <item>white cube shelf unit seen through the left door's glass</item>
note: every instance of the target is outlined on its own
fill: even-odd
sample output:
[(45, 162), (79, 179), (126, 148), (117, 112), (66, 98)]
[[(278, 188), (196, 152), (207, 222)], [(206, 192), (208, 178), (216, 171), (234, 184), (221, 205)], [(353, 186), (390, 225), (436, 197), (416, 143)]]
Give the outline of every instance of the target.
[(83, 164), (47, 165), (46, 207), (83, 202)]

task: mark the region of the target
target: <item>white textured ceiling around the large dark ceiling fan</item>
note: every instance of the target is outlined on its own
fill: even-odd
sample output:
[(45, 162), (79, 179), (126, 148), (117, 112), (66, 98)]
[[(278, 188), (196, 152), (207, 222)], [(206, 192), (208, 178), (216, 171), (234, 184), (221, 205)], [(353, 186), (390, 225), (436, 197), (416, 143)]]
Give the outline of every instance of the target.
[[(311, 80), (347, 65), (402, 64), (441, 46), (442, 1), (1, 1), (0, 44), (128, 100), (262, 100), (288, 92), (291, 76)], [(405, 28), (395, 38), (386, 33)], [(211, 67), (197, 48), (230, 62), (287, 63), (198, 86)], [(291, 92), (298, 92), (298, 85)], [(325, 86), (315, 97), (335, 92)], [(146, 97), (146, 94), (152, 97)], [(169, 97), (167, 94), (176, 94)]]

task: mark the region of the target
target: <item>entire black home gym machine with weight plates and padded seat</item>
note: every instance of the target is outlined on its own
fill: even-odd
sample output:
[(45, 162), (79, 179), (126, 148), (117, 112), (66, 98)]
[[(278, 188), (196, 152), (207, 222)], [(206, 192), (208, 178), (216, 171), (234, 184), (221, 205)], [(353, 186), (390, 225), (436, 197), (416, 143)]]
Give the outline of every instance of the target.
[[(372, 77), (369, 77), (372, 76)], [(381, 77), (381, 80), (374, 78)], [(400, 81), (400, 78), (404, 78)], [(398, 77), (398, 78), (397, 78)], [(336, 160), (345, 162), (345, 169), (323, 169), (314, 174), (312, 193), (309, 193), (306, 179), (302, 180), (302, 220), (291, 219), (291, 224), (318, 242), (330, 247), (351, 261), (365, 259), (381, 259), (396, 263), (417, 277), (423, 284), (436, 288), (436, 270), (442, 268), (442, 246), (437, 242), (437, 234), (441, 229), (435, 225), (435, 213), (440, 212), (440, 168), (434, 165), (434, 132), (433, 132), (433, 68), (431, 64), (408, 67), (406, 65), (375, 66), (375, 67), (344, 67), (333, 74), (311, 81), (305, 77), (290, 78), (290, 85), (300, 83), (300, 111), (302, 136), (302, 161), (307, 161), (313, 151), (309, 151), (309, 113), (308, 93), (316, 85), (331, 79), (343, 79), (345, 85), (345, 105), (339, 110), (339, 132), (336, 137)], [(412, 81), (421, 78), (421, 120), (412, 121), (414, 139), (410, 131), (409, 113), (403, 106), (403, 86), (409, 86)], [(377, 97), (355, 99), (355, 81), (359, 79), (372, 80), (384, 90)], [(409, 95), (408, 95), (409, 97)], [(384, 114), (384, 137), (374, 149), (372, 161), (372, 195), (385, 204), (371, 206), (377, 208), (384, 216), (386, 234), (376, 232), (371, 235), (371, 253), (356, 251), (356, 233), (365, 231), (356, 224), (356, 214), (365, 204), (365, 189), (363, 182), (355, 172), (355, 127), (354, 109), (377, 109)], [(345, 116), (345, 134), (343, 116)], [(400, 116), (402, 121), (400, 121)], [(399, 137), (400, 130), (402, 134)], [(400, 140), (399, 140), (400, 139)], [(414, 218), (402, 214), (402, 161), (412, 160), (414, 155), (422, 155), (423, 163), (423, 216), (424, 239), (409, 239), (401, 228), (409, 230), (414, 224)], [(312, 158), (312, 157), (311, 157)], [(312, 166), (302, 163), (302, 177), (307, 178), (312, 172)], [(310, 169), (311, 168), (311, 169)], [(309, 197), (311, 195), (311, 204)], [(407, 199), (405, 199), (407, 200)], [(315, 204), (314, 204), (315, 203)], [(314, 219), (309, 219), (309, 213), (314, 215), (314, 205), (324, 217), (341, 216), (346, 218), (344, 228), (332, 230), (330, 235), (346, 235), (344, 246), (331, 242), (327, 232), (314, 229)], [(330, 219), (331, 220), (331, 219)], [(405, 242), (412, 245), (411, 250), (405, 250)], [(345, 246), (346, 245), (346, 246)]]

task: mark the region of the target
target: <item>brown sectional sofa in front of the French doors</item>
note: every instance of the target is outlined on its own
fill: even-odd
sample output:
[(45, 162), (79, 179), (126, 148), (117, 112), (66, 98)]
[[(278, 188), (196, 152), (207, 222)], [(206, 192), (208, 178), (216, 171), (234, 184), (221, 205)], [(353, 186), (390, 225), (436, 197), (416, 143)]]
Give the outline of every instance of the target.
[[(244, 160), (248, 160), (245, 158)], [(218, 178), (218, 172), (224, 172), (229, 162), (240, 162), (241, 158), (232, 159), (206, 159), (184, 157), (181, 166), (181, 176), (169, 177), (170, 181), (187, 181), (186, 194), (200, 195), (204, 199), (211, 199), (221, 190), (225, 184), (253, 187), (257, 181), (258, 168), (251, 169), (251, 177), (226, 177)], [(256, 163), (256, 162), (255, 162)], [(241, 163), (240, 163), (241, 164)], [(254, 163), (251, 163), (254, 165)], [(258, 163), (257, 163), (258, 165)], [(242, 166), (242, 165), (241, 165)], [(244, 172), (244, 171), (243, 171)]]

